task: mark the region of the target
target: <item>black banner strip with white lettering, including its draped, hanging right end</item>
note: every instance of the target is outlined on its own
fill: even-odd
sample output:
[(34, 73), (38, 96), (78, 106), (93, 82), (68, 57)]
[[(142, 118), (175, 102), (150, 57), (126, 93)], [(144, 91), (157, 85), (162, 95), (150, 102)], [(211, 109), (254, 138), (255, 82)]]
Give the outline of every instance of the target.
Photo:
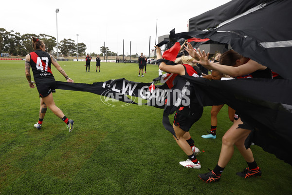
[[(194, 90), (191, 89), (192, 85), (189, 81), (181, 77), (176, 77), (173, 80), (174, 86), (172, 89), (169, 89), (166, 84), (155, 86), (154, 82), (155, 80), (158, 81), (158, 79), (160, 77), (153, 79), (154, 81), (150, 83), (133, 82), (125, 78), (95, 82), (92, 84), (56, 81), (56, 89), (90, 92), (101, 95), (104, 99), (112, 98), (128, 104), (164, 108), (164, 128), (175, 136), (168, 116), (173, 114), (181, 105), (195, 105), (198, 103), (196, 98), (190, 99), (190, 92)], [(162, 82), (164, 81), (164, 78), (162, 78)], [(128, 96), (131, 96), (131, 98)], [(133, 97), (135, 100), (133, 100)], [(143, 103), (145, 100), (146, 103)]]

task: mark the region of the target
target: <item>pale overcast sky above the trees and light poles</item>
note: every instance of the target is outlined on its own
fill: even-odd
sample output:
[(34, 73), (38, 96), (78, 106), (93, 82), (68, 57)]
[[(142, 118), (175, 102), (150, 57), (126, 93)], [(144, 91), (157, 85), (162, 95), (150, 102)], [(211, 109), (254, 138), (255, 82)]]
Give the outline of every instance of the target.
[[(87, 46), (87, 53), (101, 53), (106, 42), (110, 51), (123, 54), (143, 52), (148, 55), (155, 45), (156, 19), (158, 37), (187, 31), (187, 21), (230, 0), (13, 0), (0, 6), (0, 28), (25, 33), (47, 34), (58, 41), (73, 39)], [(182, 4), (179, 4), (182, 2)], [(189, 2), (189, 4), (186, 4)], [(183, 4), (184, 3), (184, 4)], [(199, 4), (200, 3), (200, 4)], [(200, 8), (199, 8), (200, 7)]]

